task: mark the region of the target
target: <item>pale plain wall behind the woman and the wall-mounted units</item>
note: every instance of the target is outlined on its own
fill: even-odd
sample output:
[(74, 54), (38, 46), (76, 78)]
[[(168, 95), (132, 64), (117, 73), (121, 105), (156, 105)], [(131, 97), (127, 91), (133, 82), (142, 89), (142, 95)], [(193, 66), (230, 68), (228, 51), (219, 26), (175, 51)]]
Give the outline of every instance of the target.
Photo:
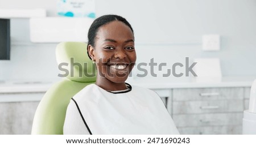
[[(0, 8), (46, 8), (56, 1), (0, 0)], [(224, 76), (256, 76), (256, 1), (96, 0), (96, 15), (124, 16), (134, 28), (138, 62), (184, 62), (218, 57)], [(221, 50), (201, 50), (201, 36), (221, 35)], [(28, 19), (11, 20), (11, 61), (0, 61), (0, 80), (55, 80), (56, 44), (32, 44)]]

